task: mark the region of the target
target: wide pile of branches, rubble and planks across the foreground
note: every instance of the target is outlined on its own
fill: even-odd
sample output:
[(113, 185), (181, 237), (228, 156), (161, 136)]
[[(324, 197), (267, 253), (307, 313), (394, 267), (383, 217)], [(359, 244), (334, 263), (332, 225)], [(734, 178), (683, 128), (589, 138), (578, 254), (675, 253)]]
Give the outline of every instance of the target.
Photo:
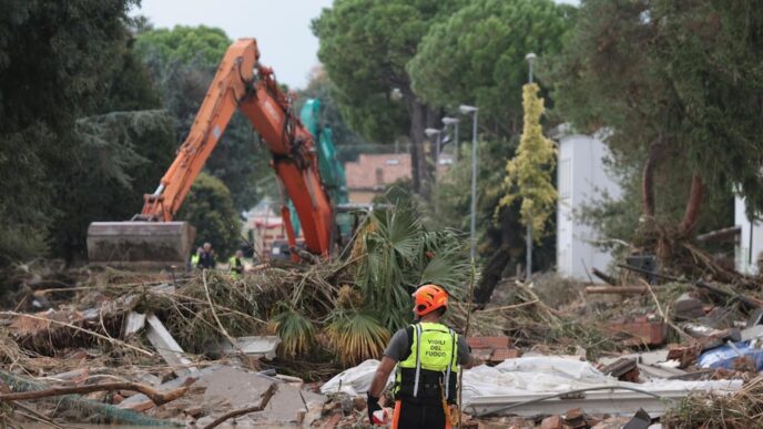
[[(358, 358), (378, 357), (389, 333), (355, 336), (369, 316), (356, 309), (346, 268), (258, 266), (236, 279), (22, 272), (11, 289), (26, 304), (0, 311), (1, 417), (367, 425), (378, 361)], [(763, 412), (760, 292), (660, 284), (630, 268), (608, 286), (502, 280), (470, 316), (467, 343), (484, 365), (464, 372), (462, 427), (754, 427)], [(447, 323), (461, 328), (467, 309), (454, 303)], [(350, 359), (338, 353), (343, 341), (365, 348)]]

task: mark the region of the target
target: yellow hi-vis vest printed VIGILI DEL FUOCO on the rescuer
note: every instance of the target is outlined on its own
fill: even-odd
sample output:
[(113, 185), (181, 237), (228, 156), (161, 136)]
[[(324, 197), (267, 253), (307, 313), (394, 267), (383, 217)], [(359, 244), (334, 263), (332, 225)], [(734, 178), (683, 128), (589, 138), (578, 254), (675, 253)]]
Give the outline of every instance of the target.
[[(413, 325), (413, 344), (410, 355), (397, 364), (396, 381), (403, 381), (403, 369), (415, 369), (413, 397), (418, 397), (421, 371), (439, 372), (442, 375), (446, 399), (450, 394), (450, 374), (458, 374), (458, 334), (441, 324), (420, 323)], [(431, 388), (431, 386), (429, 386)]]

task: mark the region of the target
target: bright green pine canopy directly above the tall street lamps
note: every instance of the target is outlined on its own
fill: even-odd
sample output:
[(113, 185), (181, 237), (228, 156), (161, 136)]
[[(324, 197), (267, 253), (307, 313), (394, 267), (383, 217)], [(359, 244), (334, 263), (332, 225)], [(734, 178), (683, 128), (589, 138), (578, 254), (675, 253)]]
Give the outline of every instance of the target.
[(413, 88), (435, 105), (477, 105), (484, 130), (516, 135), (525, 55), (559, 52), (574, 10), (551, 0), (471, 1), (428, 31), (408, 63)]

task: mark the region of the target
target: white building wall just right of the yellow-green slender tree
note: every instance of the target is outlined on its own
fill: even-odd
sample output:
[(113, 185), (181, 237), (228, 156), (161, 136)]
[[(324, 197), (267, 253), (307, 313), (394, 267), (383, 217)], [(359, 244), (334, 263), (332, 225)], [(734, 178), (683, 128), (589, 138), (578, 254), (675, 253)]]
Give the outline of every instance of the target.
[(620, 197), (620, 186), (604, 168), (608, 154), (601, 141), (588, 135), (559, 139), (557, 270), (564, 277), (588, 280), (592, 268), (606, 269), (611, 262), (611, 255), (593, 244), (599, 239), (596, 231), (574, 218), (576, 211), (603, 193)]

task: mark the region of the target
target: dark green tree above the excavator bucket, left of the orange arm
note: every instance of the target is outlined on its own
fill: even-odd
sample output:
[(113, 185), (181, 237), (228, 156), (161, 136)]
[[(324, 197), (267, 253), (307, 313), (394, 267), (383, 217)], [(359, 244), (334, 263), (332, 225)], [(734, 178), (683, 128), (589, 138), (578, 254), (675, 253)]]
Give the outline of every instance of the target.
[(176, 146), (172, 120), (163, 110), (113, 112), (77, 121), (71, 136), (77, 162), (57, 177), (52, 249), (67, 261), (85, 254), (88, 225), (126, 221), (143, 206)]

